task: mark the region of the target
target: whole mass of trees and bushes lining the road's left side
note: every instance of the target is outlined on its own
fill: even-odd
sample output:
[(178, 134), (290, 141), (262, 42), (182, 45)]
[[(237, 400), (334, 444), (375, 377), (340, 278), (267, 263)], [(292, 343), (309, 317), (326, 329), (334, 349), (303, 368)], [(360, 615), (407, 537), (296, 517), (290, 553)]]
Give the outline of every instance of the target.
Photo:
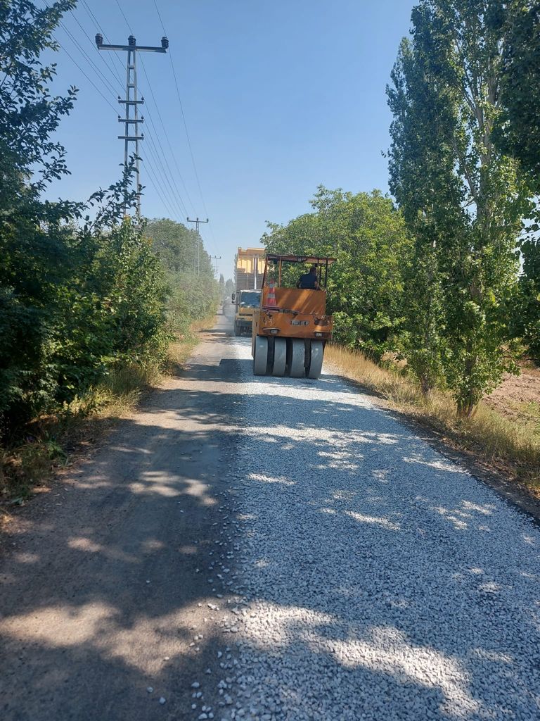
[(74, 5), (0, 4), (0, 436), (117, 368), (160, 365), (219, 296), (195, 231), (125, 217), (130, 169), (87, 203), (42, 198), (68, 172), (53, 136), (76, 89), (51, 96), (54, 67), (39, 58)]

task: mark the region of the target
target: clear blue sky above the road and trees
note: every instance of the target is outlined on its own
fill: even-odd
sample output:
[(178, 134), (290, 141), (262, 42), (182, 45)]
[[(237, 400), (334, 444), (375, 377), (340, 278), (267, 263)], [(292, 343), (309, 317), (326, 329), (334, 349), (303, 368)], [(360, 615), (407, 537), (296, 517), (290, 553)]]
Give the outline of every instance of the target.
[[(153, 0), (119, 1), (138, 44), (159, 45), (163, 30)], [(116, 0), (86, 0), (86, 4), (112, 43), (127, 43), (130, 32)], [(389, 144), (390, 113), (384, 90), (400, 39), (408, 33), (413, 0), (157, 0), (157, 4), (171, 44), (204, 204), (171, 61), (160, 54), (143, 56), (146, 76), (139, 67), (140, 91), (146, 100), (144, 131), (153, 135), (150, 116), (167, 156), (161, 161), (163, 171), (168, 174), (168, 162), (173, 190), (176, 183), (189, 216), (203, 218), (208, 213), (212, 228), (202, 226), (202, 236), (211, 255), (222, 256), (218, 267), (225, 278), (233, 273), (236, 248), (258, 244), (266, 220), (283, 223), (308, 211), (308, 201), (320, 183), (353, 192), (387, 191), (387, 161), (381, 151)], [(122, 110), (115, 97), (125, 92), (125, 55), (120, 59), (101, 53), (107, 54), (109, 65), (114, 62), (121, 85), (93, 45), (96, 25), (81, 0), (63, 25), (94, 65), (60, 27), (56, 37), (63, 49), (55, 57), (55, 89), (74, 84), (80, 92), (60, 133), (72, 175), (48, 195), (82, 199), (120, 174), (123, 146), (117, 135), (123, 131), (117, 114)], [(157, 144), (156, 149), (159, 154)], [(141, 155), (148, 155), (156, 165), (151, 141), (142, 143)], [(145, 163), (142, 182), (146, 186), (143, 214), (170, 216)], [(180, 213), (174, 217), (184, 220)]]

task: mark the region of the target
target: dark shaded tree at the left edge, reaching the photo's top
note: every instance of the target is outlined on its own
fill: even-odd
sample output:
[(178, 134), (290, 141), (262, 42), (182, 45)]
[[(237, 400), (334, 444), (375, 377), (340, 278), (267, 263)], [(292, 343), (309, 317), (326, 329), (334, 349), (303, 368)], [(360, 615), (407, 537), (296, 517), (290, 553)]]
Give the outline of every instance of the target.
[(41, 191), (65, 174), (64, 151), (51, 140), (76, 90), (52, 97), (55, 66), (40, 53), (57, 46), (52, 33), (63, 0), (47, 9), (0, 2), (0, 414), (17, 403), (40, 406), (55, 385), (48, 307), (65, 277), (75, 203), (42, 203)]

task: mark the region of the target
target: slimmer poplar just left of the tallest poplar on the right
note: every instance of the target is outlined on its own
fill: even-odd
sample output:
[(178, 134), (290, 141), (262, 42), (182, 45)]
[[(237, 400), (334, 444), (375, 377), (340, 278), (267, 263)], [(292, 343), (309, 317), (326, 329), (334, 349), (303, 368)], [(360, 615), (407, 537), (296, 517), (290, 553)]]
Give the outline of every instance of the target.
[(447, 213), (450, 203), (459, 208), (459, 185), (451, 148), (433, 133), (448, 112), (446, 94), (430, 84), (425, 58), (408, 39), (402, 40), (391, 77), (390, 190), (414, 238), (403, 297), (404, 352), (428, 396), (441, 381), (446, 348), (438, 242), (449, 224), (459, 227), (459, 213), (454, 218)]

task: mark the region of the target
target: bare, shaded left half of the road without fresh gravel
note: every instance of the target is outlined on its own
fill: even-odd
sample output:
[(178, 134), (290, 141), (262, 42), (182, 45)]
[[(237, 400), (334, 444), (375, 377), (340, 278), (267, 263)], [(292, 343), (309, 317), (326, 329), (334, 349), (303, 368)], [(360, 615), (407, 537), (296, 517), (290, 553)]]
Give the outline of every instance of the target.
[(156, 391), (143, 409), (152, 423), (123, 420), (69, 482), (22, 509), (0, 567), (2, 721), (178, 720), (193, 681), (213, 692), (205, 671), (219, 673), (225, 640), (196, 616), (230, 593), (207, 567), (230, 547), (220, 506), (235, 493), (224, 466), (240, 438), (175, 430), (210, 410), (230, 425), (228, 397), (189, 401), (171, 411), (178, 392)]

